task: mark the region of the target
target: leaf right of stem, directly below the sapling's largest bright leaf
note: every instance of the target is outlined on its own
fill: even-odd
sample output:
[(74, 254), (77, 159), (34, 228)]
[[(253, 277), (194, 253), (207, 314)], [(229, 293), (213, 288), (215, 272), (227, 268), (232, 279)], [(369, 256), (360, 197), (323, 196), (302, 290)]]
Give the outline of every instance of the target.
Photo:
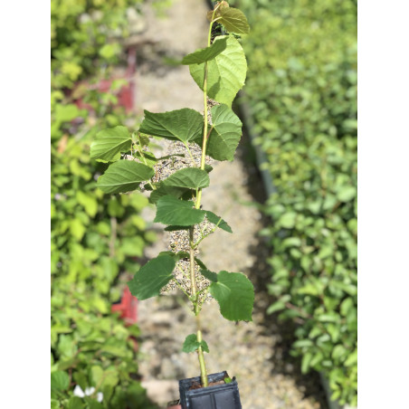
[(233, 160), (242, 138), (242, 121), (226, 105), (212, 108), (213, 130), (207, 142), (206, 154), (216, 160)]

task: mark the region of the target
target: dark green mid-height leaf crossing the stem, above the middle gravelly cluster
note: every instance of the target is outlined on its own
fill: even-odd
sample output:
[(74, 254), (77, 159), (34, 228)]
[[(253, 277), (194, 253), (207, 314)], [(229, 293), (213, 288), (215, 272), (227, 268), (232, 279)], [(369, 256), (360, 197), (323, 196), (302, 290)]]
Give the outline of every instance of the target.
[(195, 209), (193, 202), (185, 202), (166, 195), (157, 201), (157, 215), (154, 222), (180, 226), (199, 224), (205, 219), (203, 210)]

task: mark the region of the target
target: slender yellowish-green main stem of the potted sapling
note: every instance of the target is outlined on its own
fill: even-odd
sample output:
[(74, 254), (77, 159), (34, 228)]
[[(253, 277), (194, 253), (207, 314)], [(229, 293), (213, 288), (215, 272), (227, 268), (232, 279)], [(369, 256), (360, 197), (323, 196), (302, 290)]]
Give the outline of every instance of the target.
[[(213, 18), (214, 19), (214, 14), (215, 14), (216, 9), (214, 10), (213, 13)], [(207, 36), (207, 46), (210, 46), (210, 41), (211, 41), (211, 35), (212, 35), (212, 26), (213, 26), (213, 21), (210, 23), (209, 27), (209, 33)], [(202, 170), (205, 170), (205, 158), (206, 158), (206, 145), (207, 145), (207, 62), (205, 62), (205, 79), (203, 83), (203, 97), (204, 97), (204, 106), (205, 106), (205, 123), (204, 123), (204, 130), (203, 130), (203, 146), (202, 146), (202, 158), (200, 161), (200, 168)], [(202, 201), (202, 188), (198, 189), (197, 191), (197, 197), (196, 197), (196, 203), (195, 203), (195, 208), (199, 209), (200, 208), (200, 203)], [(197, 333), (196, 333), (196, 338), (197, 342), (202, 342), (202, 327), (200, 323), (200, 307), (199, 307), (199, 298), (197, 295), (197, 287), (196, 287), (196, 278), (195, 278), (195, 226), (192, 226), (189, 229), (189, 242), (190, 242), (190, 281), (192, 284), (192, 300), (193, 300), (193, 305), (194, 305), (194, 310), (195, 310), (195, 317), (196, 317), (196, 328), (197, 328)], [(197, 348), (197, 357), (199, 358), (199, 365), (200, 365), (200, 378), (202, 382), (203, 387), (207, 387), (209, 385), (208, 380), (207, 380), (207, 369), (205, 365), (205, 354), (203, 351), (202, 347)]]

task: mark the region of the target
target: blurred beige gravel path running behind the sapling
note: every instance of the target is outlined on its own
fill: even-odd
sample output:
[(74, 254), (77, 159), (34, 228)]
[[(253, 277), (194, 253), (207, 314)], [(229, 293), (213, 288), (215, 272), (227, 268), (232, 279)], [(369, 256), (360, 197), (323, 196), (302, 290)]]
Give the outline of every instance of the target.
[[(206, 42), (205, 1), (174, 0), (166, 12), (169, 19), (157, 19), (147, 6), (147, 31), (153, 41), (138, 50), (136, 104), (143, 109), (165, 111), (192, 108), (203, 112), (203, 94), (185, 66), (169, 66), (163, 57), (180, 59), (202, 48)], [(242, 271), (256, 289), (253, 322), (235, 325), (223, 319), (213, 300), (202, 312), (209, 373), (227, 370), (236, 376), (244, 409), (327, 409), (319, 376), (300, 376), (300, 366), (289, 355), (291, 328), (267, 316), (271, 303), (266, 292), (269, 281), (268, 249), (258, 233), (265, 225), (257, 203), (264, 200), (252, 151), (244, 136), (233, 162), (218, 162), (210, 174), (203, 206), (231, 225), (233, 234), (219, 230), (201, 246), (200, 258), (212, 271)], [(250, 204), (250, 205), (249, 205)], [(147, 220), (153, 211), (147, 210)], [(162, 225), (152, 224), (160, 232)], [(146, 257), (168, 250), (163, 235)], [(177, 379), (199, 375), (195, 354), (181, 352), (186, 335), (195, 332), (195, 319), (179, 294), (141, 301), (138, 304), (141, 329), (139, 373), (148, 395), (161, 407), (178, 398)]]

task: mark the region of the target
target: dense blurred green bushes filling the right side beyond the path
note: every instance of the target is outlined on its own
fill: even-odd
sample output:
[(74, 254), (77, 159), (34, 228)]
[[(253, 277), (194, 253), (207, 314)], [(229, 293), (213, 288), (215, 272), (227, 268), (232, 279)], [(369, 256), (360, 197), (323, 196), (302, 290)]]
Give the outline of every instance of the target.
[(236, 2), (252, 33), (246, 100), (276, 193), (269, 312), (298, 323), (301, 369), (357, 404), (357, 6)]

